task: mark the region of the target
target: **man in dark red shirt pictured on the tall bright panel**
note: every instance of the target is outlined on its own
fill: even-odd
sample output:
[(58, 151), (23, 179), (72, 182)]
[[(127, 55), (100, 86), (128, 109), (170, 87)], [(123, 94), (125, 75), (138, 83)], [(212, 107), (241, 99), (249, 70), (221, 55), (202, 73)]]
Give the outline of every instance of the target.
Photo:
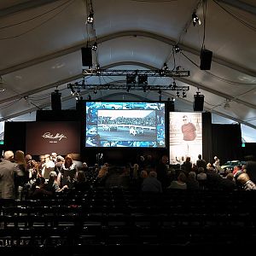
[(181, 130), (183, 133), (183, 141), (186, 143), (186, 155), (189, 156), (189, 144), (195, 141), (196, 128), (195, 125), (189, 121), (189, 117), (187, 115), (183, 115), (183, 125)]

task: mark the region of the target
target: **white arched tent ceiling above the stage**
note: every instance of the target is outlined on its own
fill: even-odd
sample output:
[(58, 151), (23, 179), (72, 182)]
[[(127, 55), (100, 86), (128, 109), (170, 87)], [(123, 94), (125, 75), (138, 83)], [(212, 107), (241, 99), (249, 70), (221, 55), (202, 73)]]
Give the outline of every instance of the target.
[[(207, 7), (207, 8), (205, 8)], [(94, 13), (93, 24), (86, 17)], [(196, 11), (201, 26), (192, 24)], [(205, 37), (204, 37), (205, 36)], [(0, 120), (51, 109), (51, 92), (61, 92), (61, 108), (75, 108), (68, 83), (81, 81), (81, 47), (97, 42), (93, 67), (190, 72), (175, 78), (189, 86), (176, 109), (193, 111), (194, 95), (204, 110), (256, 128), (256, 3), (208, 0), (2, 0), (0, 1)], [(181, 51), (175, 53), (178, 44)], [(212, 51), (210, 70), (200, 69), (202, 44)], [(86, 77), (87, 84), (125, 82), (125, 77)], [(149, 78), (171, 84), (172, 78)], [(158, 91), (82, 90), (92, 99), (158, 100)], [(164, 90), (162, 99), (175, 97)], [(225, 102), (230, 108), (224, 108)]]

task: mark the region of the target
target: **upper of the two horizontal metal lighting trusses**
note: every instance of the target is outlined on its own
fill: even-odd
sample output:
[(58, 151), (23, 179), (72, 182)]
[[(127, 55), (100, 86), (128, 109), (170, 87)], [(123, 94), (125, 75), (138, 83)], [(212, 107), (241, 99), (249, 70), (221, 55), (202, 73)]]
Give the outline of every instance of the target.
[(126, 75), (145, 75), (148, 77), (189, 77), (190, 72), (187, 70), (165, 70), (165, 69), (153, 69), (153, 70), (117, 70), (117, 69), (84, 69), (84, 76), (126, 76)]

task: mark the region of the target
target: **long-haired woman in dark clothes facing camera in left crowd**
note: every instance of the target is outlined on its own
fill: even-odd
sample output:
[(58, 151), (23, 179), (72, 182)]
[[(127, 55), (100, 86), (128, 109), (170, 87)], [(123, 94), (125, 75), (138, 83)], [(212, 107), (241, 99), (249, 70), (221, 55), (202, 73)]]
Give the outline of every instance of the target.
[(61, 187), (67, 185), (68, 189), (73, 189), (75, 177), (77, 176), (78, 167), (73, 162), (71, 154), (67, 154), (64, 163), (61, 166), (61, 170), (57, 177), (57, 182)]

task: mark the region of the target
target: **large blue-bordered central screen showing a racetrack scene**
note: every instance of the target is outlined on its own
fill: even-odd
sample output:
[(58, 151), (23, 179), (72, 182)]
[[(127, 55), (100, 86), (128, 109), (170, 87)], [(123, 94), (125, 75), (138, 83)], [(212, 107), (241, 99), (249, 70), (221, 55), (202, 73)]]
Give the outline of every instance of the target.
[(84, 102), (85, 147), (166, 147), (165, 102)]

